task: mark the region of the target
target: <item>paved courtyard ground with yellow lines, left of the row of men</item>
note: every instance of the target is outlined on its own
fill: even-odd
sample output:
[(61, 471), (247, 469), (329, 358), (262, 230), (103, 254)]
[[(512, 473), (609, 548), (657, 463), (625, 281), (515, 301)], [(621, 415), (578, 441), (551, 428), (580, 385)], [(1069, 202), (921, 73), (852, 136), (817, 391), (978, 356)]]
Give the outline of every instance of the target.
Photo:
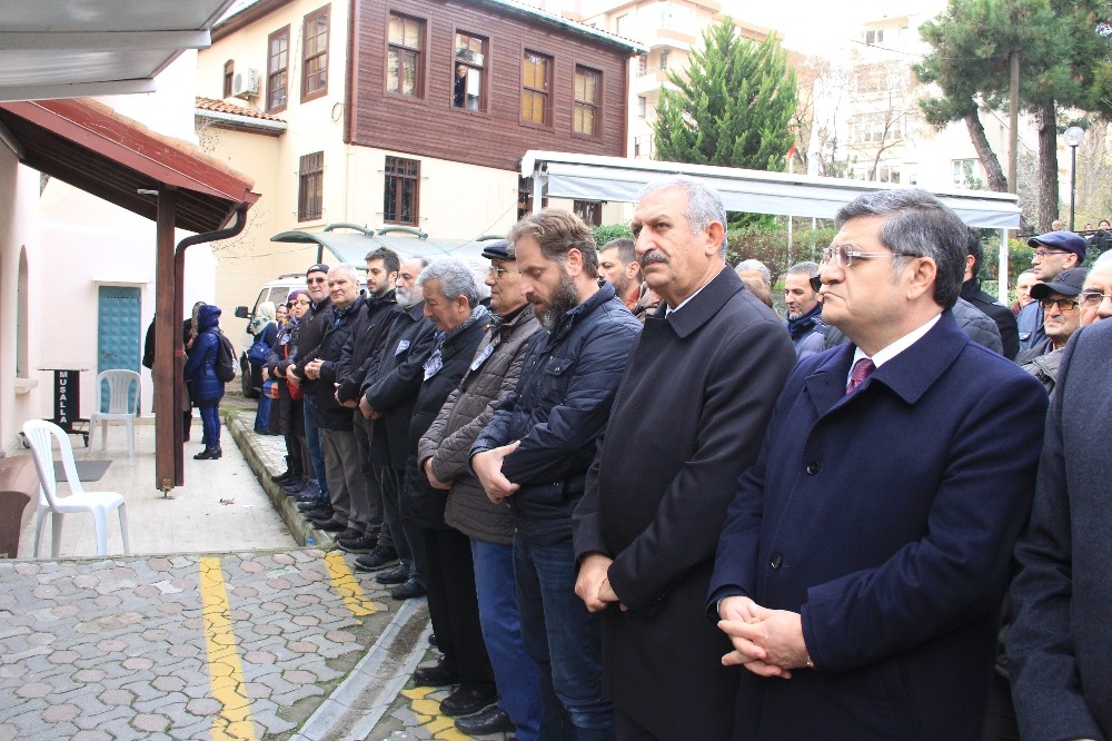
[(467, 738), (439, 714), (448, 689), (408, 682), (436, 656), (424, 600), (391, 600), (329, 550), (269, 482), (281, 438), (241, 406), (225, 405), (221, 460), (187, 444), (172, 498), (153, 488), (153, 425), (133, 460), (122, 427), (107, 452), (99, 435), (75, 448), (112, 460), (87, 487), (125, 495), (138, 555), (92, 555), (71, 515), (60, 560), (23, 560), (32, 517), (21, 559), (0, 561), (0, 741)]

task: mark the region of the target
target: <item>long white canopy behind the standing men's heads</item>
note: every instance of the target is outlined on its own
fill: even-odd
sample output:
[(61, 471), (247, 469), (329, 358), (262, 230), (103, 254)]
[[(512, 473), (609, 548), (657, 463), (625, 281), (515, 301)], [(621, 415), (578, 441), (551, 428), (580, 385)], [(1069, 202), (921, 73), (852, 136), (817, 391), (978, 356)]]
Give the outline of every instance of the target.
[[(731, 211), (824, 219), (834, 218), (842, 206), (863, 192), (901, 187), (814, 175), (556, 151), (529, 150), (522, 158), (522, 177), (533, 178), (535, 210), (539, 210), (546, 196), (634, 202), (646, 184), (668, 175), (704, 180), (722, 195), (723, 204)], [(1007, 295), (1007, 229), (1020, 226), (1016, 197), (983, 190), (935, 191), (934, 195), (969, 226), (1001, 230), (999, 285), (1003, 303)]]

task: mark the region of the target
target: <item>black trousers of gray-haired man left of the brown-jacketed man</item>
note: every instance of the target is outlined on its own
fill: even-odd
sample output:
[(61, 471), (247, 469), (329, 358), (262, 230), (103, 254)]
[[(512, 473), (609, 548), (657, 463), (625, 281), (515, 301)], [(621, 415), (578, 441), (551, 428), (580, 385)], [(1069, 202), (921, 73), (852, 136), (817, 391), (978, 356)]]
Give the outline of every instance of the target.
[(427, 572), (428, 613), (444, 666), (469, 690), (494, 691), (494, 669), (483, 641), (475, 596), (471, 543), (457, 530), (421, 527)]

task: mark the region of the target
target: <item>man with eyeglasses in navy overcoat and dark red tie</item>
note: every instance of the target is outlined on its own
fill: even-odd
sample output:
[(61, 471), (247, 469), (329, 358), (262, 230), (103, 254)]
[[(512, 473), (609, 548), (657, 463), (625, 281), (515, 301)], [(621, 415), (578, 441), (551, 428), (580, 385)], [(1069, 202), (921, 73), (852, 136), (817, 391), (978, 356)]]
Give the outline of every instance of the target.
[(823, 322), (850, 343), (788, 377), (711, 581), (735, 738), (979, 739), (1046, 394), (954, 320), (945, 205), (881, 190), (836, 224)]

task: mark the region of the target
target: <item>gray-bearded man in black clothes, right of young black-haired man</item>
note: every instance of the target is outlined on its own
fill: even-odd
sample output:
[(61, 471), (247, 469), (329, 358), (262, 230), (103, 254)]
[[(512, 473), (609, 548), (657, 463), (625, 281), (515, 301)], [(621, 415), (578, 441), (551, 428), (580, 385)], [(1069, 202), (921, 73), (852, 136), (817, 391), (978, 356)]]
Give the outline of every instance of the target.
[(370, 455), (373, 463), (383, 466), (383, 512), (389, 534), (380, 533), (378, 545), (356, 559), (355, 565), (360, 571), (379, 571), (400, 559), (397, 569), (376, 577), (379, 584), (394, 586), (390, 596), (396, 600), (425, 593), (420, 531), (411, 518), (404, 516), (400, 497), (408, 456), (409, 421), (436, 334), (436, 327), (424, 316), (424, 295), (417, 285), (417, 277), (427, 265), (428, 260), (420, 257), (401, 264), (394, 295), (403, 310), (390, 327), (378, 363), (373, 363), (367, 370), (359, 398), (359, 411), (376, 422)]

